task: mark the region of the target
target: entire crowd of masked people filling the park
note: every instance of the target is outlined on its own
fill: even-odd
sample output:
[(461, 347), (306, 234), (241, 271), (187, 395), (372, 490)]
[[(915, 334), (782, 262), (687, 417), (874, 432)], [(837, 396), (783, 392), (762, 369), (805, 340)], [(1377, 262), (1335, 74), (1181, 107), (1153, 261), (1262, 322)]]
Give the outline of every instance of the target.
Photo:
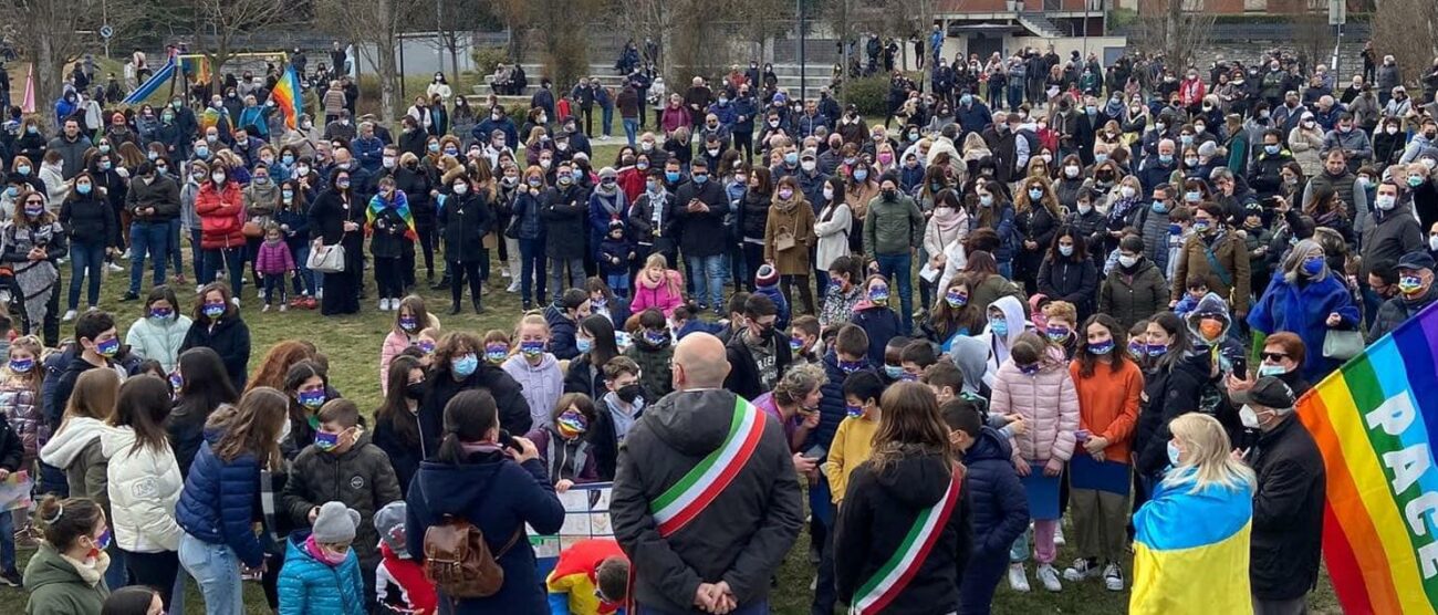
[[(342, 83), (293, 129), (255, 92), (13, 109), (0, 478), (46, 496), (0, 514), (0, 582), (65, 614), (187, 586), (243, 612), (250, 576), (279, 612), (759, 614), (807, 523), (815, 614), (985, 614), (1030, 579), (1304, 612), (1324, 473), (1297, 398), (1438, 297), (1438, 79), (976, 60), (896, 79), (883, 124), (752, 63), (641, 132), (661, 82), (626, 79), (613, 161), (591, 79), (512, 119), (437, 75), (397, 138)], [(127, 259), (121, 338), (99, 280)], [(446, 328), (420, 272), (450, 315), (502, 277), (523, 313)], [(394, 312), (378, 407), (322, 341), (250, 366), (246, 318), (367, 292)], [(614, 540), (541, 578), (525, 527), (601, 481)], [(23, 578), (12, 529), (42, 537)]]

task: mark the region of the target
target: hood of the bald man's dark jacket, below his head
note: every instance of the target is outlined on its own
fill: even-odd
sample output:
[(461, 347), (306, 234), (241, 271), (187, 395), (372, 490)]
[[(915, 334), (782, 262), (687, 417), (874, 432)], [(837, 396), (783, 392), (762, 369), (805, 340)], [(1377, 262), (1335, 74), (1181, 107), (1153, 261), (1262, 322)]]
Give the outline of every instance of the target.
[(646, 410), (644, 422), (664, 444), (686, 456), (703, 457), (729, 435), (729, 412), (736, 398), (726, 389), (679, 391)]

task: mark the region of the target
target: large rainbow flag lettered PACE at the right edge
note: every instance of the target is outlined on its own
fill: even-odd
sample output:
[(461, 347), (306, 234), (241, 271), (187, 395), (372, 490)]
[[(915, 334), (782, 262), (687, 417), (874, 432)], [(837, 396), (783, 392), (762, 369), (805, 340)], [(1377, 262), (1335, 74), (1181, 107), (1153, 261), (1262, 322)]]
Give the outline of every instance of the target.
[(1327, 468), (1323, 555), (1346, 614), (1438, 605), (1435, 361), (1429, 306), (1299, 401)]

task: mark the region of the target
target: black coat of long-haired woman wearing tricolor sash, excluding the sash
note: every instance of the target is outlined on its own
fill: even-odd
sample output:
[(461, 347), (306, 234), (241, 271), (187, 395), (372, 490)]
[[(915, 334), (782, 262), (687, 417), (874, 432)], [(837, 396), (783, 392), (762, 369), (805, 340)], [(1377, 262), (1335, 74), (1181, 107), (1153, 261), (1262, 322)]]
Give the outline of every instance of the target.
[[(945, 466), (940, 456), (910, 454), (881, 473), (869, 461), (854, 468), (834, 524), (834, 586), (841, 599), (856, 598), (858, 588), (900, 549), (919, 514), (940, 503), (953, 473)], [(972, 545), (969, 506), (959, 497), (919, 570), (884, 612), (956, 611)]]

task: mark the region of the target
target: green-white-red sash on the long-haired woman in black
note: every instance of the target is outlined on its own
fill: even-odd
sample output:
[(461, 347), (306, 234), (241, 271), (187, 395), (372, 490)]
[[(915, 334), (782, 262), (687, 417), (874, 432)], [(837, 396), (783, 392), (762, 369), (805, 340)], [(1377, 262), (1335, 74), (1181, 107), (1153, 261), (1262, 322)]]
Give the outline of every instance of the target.
[(962, 484), (963, 468), (955, 466), (943, 499), (919, 512), (919, 517), (913, 520), (913, 527), (909, 527), (909, 533), (899, 543), (894, 555), (879, 568), (879, 572), (874, 572), (873, 578), (858, 586), (858, 592), (850, 602), (853, 605), (848, 608), (851, 615), (883, 611), (909, 585), (913, 575), (919, 572), (919, 566), (929, 558), (929, 550), (939, 540), (943, 527), (949, 523), (949, 514), (953, 513), (953, 506), (959, 501)]

